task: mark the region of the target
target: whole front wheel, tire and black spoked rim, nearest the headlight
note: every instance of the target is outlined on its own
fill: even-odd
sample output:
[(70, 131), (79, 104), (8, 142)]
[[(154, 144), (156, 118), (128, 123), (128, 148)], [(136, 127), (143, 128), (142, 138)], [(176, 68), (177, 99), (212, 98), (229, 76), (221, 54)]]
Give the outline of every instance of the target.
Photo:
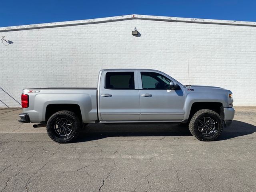
[(202, 109), (191, 118), (189, 130), (200, 141), (213, 141), (220, 136), (223, 124), (218, 113)]

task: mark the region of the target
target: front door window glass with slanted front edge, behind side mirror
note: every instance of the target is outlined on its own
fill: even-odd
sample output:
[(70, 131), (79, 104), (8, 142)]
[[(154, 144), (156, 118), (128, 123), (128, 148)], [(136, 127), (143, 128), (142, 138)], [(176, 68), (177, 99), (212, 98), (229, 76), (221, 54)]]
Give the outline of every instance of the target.
[(140, 72), (143, 89), (164, 89), (170, 87), (171, 80), (155, 72)]

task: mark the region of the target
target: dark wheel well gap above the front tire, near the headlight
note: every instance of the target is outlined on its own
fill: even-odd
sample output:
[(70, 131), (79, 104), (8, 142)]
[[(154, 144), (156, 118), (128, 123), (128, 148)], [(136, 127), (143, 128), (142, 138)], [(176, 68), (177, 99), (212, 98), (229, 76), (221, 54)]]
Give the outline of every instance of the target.
[(195, 102), (192, 104), (190, 114), (189, 114), (189, 120), (192, 118), (192, 116), (201, 109), (210, 109), (212, 111), (215, 111), (220, 115), (220, 117), (223, 119), (224, 112), (223, 112), (223, 105), (220, 102)]

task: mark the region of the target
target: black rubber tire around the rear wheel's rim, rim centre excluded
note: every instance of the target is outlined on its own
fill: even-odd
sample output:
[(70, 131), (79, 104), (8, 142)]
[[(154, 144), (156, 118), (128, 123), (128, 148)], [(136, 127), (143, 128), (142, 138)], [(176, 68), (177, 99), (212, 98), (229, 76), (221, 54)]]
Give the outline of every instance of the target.
[[(55, 124), (58, 120), (62, 121), (63, 119), (67, 119), (69, 120), (69, 122), (72, 123), (72, 131), (70, 131), (70, 134), (68, 136), (58, 136), (58, 133), (54, 130), (55, 128)], [(71, 111), (59, 111), (54, 113), (48, 120), (47, 124), (46, 124), (46, 130), (48, 133), (48, 136), (54, 140), (55, 142), (58, 143), (68, 143), (68, 142), (72, 142), (74, 141), (80, 131), (81, 128), (81, 121), (78, 118), (78, 116), (76, 116), (76, 114), (74, 112)], [(65, 134), (65, 133), (64, 133)]]

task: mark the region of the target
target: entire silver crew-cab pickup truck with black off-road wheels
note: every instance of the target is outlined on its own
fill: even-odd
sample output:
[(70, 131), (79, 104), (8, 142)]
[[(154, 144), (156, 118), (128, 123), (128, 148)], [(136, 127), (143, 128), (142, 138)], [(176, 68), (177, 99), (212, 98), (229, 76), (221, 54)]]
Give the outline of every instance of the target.
[(21, 96), (19, 122), (46, 125), (50, 138), (71, 142), (89, 123), (188, 124), (201, 141), (215, 140), (234, 118), (232, 92), (184, 86), (148, 69), (101, 70), (98, 88), (30, 88)]

